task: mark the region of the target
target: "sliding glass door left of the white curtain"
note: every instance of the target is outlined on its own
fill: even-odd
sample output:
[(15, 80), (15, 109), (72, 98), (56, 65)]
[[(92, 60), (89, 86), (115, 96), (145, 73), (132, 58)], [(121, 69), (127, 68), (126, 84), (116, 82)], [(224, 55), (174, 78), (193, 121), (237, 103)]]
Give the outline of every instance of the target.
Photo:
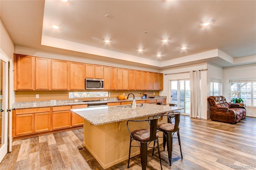
[(190, 115), (190, 82), (189, 80), (170, 81), (170, 103), (184, 107), (182, 113)]

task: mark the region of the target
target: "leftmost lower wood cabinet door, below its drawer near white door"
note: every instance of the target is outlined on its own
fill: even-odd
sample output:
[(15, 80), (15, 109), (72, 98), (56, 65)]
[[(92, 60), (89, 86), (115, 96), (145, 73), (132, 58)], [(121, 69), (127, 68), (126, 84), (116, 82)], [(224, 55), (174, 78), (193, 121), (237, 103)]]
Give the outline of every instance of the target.
[(15, 116), (15, 136), (34, 132), (34, 114)]

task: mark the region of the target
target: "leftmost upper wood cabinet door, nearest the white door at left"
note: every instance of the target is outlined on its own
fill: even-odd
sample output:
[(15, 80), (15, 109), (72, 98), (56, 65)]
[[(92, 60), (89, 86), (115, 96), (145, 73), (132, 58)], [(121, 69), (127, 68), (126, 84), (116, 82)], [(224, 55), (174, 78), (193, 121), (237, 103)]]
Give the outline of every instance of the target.
[(35, 57), (14, 55), (14, 90), (33, 90)]

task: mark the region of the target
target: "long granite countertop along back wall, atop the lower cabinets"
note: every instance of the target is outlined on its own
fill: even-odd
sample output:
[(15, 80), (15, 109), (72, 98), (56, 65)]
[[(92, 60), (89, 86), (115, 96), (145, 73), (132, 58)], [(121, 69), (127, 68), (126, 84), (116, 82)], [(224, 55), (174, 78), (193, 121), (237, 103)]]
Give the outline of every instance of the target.
[[(154, 99), (166, 99), (166, 96), (156, 96)], [(150, 98), (142, 99), (141, 97), (135, 97), (135, 100), (152, 100)], [(101, 103), (114, 103), (114, 102), (124, 102), (133, 101), (133, 98), (128, 100), (119, 100), (118, 98), (102, 98)], [(27, 101), (27, 102), (15, 102), (12, 104), (12, 109), (28, 109), (28, 108), (38, 108), (38, 107), (56, 107), (56, 106), (72, 106), (72, 105), (86, 105), (89, 101), (83, 101), (82, 99), (76, 100), (57, 100), (56, 105), (51, 104), (51, 101)], [(91, 102), (91, 101), (90, 101)], [(97, 101), (99, 103), (99, 101)]]

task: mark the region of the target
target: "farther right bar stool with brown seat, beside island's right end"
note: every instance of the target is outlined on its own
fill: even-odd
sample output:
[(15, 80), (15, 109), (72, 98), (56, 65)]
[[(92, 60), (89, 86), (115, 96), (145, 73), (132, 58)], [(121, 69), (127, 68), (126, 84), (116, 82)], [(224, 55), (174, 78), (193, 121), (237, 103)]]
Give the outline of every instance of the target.
[[(180, 142), (180, 128), (179, 128), (179, 124), (180, 124), (180, 113), (177, 112), (168, 112), (166, 115), (155, 115), (155, 116), (167, 116), (168, 118), (168, 123), (159, 123), (157, 125), (157, 128), (160, 132), (163, 132), (164, 134), (164, 142), (163, 142), (163, 146), (165, 149), (165, 143), (167, 140), (167, 152), (168, 152), (168, 158), (169, 158), (169, 162), (170, 162), (170, 166), (172, 163), (172, 138), (173, 135), (175, 134), (175, 132), (177, 132), (177, 138), (178, 138), (178, 142), (180, 145), (180, 154), (181, 154), (181, 158), (183, 158), (182, 156), (182, 151), (181, 151), (181, 142)], [(172, 119), (175, 119), (175, 124), (172, 123)], [(152, 156), (154, 155), (154, 148), (153, 148), (153, 153)]]

